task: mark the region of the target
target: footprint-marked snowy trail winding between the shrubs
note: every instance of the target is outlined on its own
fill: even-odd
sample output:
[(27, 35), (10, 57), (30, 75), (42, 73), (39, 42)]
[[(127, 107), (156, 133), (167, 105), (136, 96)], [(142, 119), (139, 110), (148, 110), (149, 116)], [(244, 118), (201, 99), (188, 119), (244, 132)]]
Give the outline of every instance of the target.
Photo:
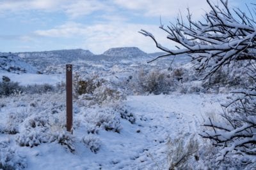
[[(202, 114), (221, 110), (217, 98), (196, 94), (129, 97), (127, 104), (137, 117), (136, 125), (140, 127), (145, 150), (131, 161), (130, 167), (168, 169), (168, 140), (182, 134), (186, 137), (198, 134), (204, 117)], [(131, 147), (140, 143), (141, 136), (133, 139), (134, 146)]]

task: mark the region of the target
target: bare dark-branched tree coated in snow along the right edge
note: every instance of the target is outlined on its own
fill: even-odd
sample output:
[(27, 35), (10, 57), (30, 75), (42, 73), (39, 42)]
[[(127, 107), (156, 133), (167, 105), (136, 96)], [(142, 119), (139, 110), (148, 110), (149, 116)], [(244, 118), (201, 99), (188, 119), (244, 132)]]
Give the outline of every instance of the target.
[[(195, 61), (195, 67), (211, 77), (223, 66), (233, 66), (236, 62), (246, 62), (249, 76), (255, 82), (256, 69), (256, 4), (248, 8), (249, 15), (243, 11), (230, 9), (227, 1), (220, 0), (220, 6), (207, 0), (211, 11), (205, 14), (204, 21), (194, 22), (188, 10), (188, 21), (177, 18), (175, 24), (160, 25), (160, 29), (168, 34), (170, 41), (177, 43), (176, 50), (162, 46), (148, 31), (141, 29), (140, 33), (150, 37), (157, 48), (166, 52), (157, 57), (188, 54)], [(154, 61), (151, 60), (150, 62)], [(231, 67), (232, 68), (232, 67)], [(246, 162), (256, 159), (256, 86), (235, 90), (239, 94), (232, 102), (223, 105), (223, 123), (205, 122), (205, 130), (200, 135), (212, 139), (213, 144), (221, 146), (223, 160), (228, 153), (234, 152), (248, 157)], [(253, 159), (250, 157), (254, 155)]]

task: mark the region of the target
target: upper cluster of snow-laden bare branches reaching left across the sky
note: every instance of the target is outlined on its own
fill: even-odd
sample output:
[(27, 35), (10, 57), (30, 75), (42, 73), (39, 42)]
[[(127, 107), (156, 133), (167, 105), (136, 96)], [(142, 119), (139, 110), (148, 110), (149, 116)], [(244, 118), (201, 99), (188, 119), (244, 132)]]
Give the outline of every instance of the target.
[(256, 60), (252, 53), (256, 48), (256, 21), (253, 15), (245, 15), (239, 8), (230, 10), (227, 1), (220, 2), (218, 6), (207, 0), (211, 11), (205, 14), (204, 21), (193, 22), (189, 14), (188, 24), (177, 18), (176, 24), (159, 27), (168, 34), (167, 39), (182, 46), (177, 50), (162, 46), (148, 31), (141, 29), (140, 33), (150, 37), (157, 48), (166, 52), (166, 55), (156, 59), (188, 54), (196, 61), (198, 70), (206, 70), (207, 76), (232, 61)]

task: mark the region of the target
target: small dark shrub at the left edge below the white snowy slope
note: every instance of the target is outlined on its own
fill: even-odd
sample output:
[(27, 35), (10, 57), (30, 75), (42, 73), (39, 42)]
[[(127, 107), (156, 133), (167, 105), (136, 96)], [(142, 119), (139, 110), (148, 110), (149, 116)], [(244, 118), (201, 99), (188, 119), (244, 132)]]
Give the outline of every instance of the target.
[(13, 81), (0, 81), (0, 97), (11, 96), (23, 92), (24, 87)]

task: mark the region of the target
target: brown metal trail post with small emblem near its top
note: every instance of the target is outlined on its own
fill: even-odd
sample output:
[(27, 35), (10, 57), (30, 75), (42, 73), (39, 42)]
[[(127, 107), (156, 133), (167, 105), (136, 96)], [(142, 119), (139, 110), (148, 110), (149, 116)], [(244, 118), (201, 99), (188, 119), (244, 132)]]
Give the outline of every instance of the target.
[(67, 131), (72, 132), (72, 122), (73, 122), (72, 64), (66, 64), (66, 92), (67, 92)]

